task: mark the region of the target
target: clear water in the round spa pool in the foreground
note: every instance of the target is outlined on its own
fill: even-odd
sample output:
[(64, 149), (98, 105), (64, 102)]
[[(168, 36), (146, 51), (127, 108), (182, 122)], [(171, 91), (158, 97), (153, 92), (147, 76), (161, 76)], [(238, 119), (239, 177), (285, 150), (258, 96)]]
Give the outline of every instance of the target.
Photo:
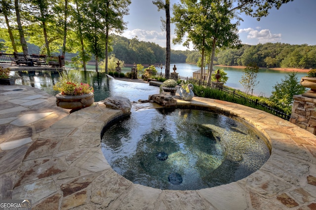
[(101, 148), (119, 175), (159, 189), (227, 184), (260, 169), (270, 150), (249, 126), (194, 109), (149, 109), (106, 127)]

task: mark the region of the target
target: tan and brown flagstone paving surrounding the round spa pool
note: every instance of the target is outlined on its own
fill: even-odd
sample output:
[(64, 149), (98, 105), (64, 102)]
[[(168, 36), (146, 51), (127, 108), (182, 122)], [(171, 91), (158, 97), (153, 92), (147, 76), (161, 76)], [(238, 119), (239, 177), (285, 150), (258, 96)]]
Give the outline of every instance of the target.
[[(22, 140), (16, 143), (17, 147), (0, 150), (0, 167), (4, 169), (0, 172), (2, 199), (32, 199), (34, 210), (316, 209), (316, 137), (276, 116), (212, 99), (177, 100), (179, 106), (202, 106), (241, 117), (263, 133), (272, 152), (260, 170), (237, 182), (200, 190), (160, 190), (133, 184), (118, 175), (102, 154), (102, 128), (122, 115), (121, 110), (99, 102), (68, 114), (55, 105), (54, 97), (34, 88), (20, 88), (29, 95), (47, 98), (40, 98), (46, 102), (40, 103), (38, 109), (31, 109), (36, 105), (23, 105), (27, 109), (21, 110), (21, 105), (9, 100), (16, 102), (25, 98), (25, 94), (7, 93), (13, 90), (0, 86), (0, 145), (11, 148), (5, 143), (29, 137), (32, 140), (25, 144)], [(133, 106), (137, 110), (142, 110), (142, 106), (157, 107), (151, 103)], [(18, 108), (12, 111), (13, 107)], [(28, 121), (32, 115), (27, 114), (34, 114), (36, 120)], [(21, 118), (23, 115), (29, 117)], [(12, 124), (18, 118), (29, 124)], [(43, 126), (45, 123), (47, 126)], [(32, 129), (28, 130), (28, 126)], [(24, 132), (23, 138), (17, 134), (19, 131)]]

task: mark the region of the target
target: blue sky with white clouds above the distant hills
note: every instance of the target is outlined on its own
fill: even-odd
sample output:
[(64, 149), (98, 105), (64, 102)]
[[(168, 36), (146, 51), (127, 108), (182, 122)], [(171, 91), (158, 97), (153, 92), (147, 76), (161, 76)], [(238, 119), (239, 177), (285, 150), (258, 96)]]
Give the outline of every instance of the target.
[[(165, 32), (161, 29), (161, 17), (165, 17), (163, 10), (158, 11), (152, 0), (131, 0), (129, 15), (124, 16), (127, 30), (121, 36), (136, 37), (140, 41), (155, 42), (165, 47)], [(172, 4), (179, 0), (170, 0), (170, 14)], [(239, 38), (244, 44), (280, 42), (288, 44), (316, 45), (316, 0), (294, 0), (277, 10), (273, 8), (267, 17), (260, 21), (256, 18), (240, 14), (243, 22), (238, 26)], [(171, 40), (175, 37), (174, 25), (171, 24)], [(171, 49), (186, 50), (181, 44), (173, 45)], [(191, 47), (190, 50), (193, 50)]]

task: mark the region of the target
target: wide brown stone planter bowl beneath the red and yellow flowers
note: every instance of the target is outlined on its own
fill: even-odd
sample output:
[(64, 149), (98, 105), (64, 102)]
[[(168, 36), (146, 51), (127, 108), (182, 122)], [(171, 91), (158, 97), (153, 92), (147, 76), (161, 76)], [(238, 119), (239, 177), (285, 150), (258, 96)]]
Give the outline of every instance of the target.
[(81, 109), (92, 105), (94, 102), (93, 93), (80, 96), (65, 96), (59, 93), (55, 97), (56, 105), (67, 109)]

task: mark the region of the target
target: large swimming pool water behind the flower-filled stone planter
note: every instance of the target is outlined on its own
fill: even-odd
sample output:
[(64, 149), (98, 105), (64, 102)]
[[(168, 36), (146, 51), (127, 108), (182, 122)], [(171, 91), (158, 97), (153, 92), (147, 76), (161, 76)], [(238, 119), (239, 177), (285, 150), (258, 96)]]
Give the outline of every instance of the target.
[[(159, 87), (149, 86), (148, 83), (108, 78), (105, 73), (80, 70), (67, 70), (67, 73), (77, 78), (78, 81), (88, 83), (94, 88), (95, 102), (114, 96), (125, 97), (133, 102), (139, 99), (146, 100), (149, 95), (159, 93)], [(58, 71), (15, 71), (14, 74), (20, 76), (16, 80), (16, 84), (36, 87), (53, 96), (58, 93), (58, 91), (53, 90), (53, 86), (60, 76)]]

